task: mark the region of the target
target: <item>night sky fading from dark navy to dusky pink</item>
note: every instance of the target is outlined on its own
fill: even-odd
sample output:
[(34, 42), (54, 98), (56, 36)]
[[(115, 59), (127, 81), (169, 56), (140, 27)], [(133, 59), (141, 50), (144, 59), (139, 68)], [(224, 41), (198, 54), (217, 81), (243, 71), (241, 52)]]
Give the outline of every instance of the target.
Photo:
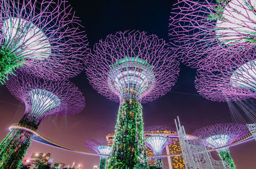
[[(116, 31), (139, 30), (157, 34), (168, 41), (168, 19), (173, 1), (129, 0), (98, 1), (72, 0), (76, 15), (81, 18), (90, 47), (108, 34)], [(145, 126), (168, 124), (175, 127), (174, 119), (179, 115), (187, 133), (207, 124), (231, 122), (227, 103), (207, 101), (195, 91), (196, 71), (183, 64), (180, 75), (171, 92), (162, 98), (143, 105)], [(113, 133), (118, 103), (100, 96), (88, 83), (85, 73), (72, 78), (86, 98), (86, 108), (76, 115), (47, 117), (38, 129), (52, 140), (65, 143), (77, 149), (84, 149), (84, 141), (104, 137)], [(15, 99), (6, 87), (0, 86), (0, 140), (9, 132), (8, 127), (19, 122), (23, 105)], [(72, 164), (81, 163), (91, 169), (99, 164), (99, 158), (67, 152), (33, 142), (26, 158), (33, 152), (50, 152), (54, 161)], [(250, 141), (230, 148), (237, 169), (254, 169), (256, 166), (256, 142)]]

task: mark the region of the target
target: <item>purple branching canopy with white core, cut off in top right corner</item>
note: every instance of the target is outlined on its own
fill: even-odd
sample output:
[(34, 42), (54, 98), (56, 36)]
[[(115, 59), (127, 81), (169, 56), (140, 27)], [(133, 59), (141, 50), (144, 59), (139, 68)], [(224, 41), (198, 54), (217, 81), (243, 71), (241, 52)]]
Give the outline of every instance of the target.
[(255, 48), (255, 0), (179, 0), (170, 18), (170, 41), (193, 68), (221, 63)]

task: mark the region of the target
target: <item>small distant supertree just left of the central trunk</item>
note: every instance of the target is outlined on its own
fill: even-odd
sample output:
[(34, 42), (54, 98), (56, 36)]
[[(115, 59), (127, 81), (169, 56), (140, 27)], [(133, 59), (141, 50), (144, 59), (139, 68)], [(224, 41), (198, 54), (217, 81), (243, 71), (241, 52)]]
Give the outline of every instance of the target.
[(108, 156), (112, 152), (112, 147), (107, 145), (106, 139), (93, 139), (87, 140), (85, 146), (97, 152), (97, 154), (106, 155), (100, 156), (100, 165), (99, 169), (106, 169), (106, 162)]

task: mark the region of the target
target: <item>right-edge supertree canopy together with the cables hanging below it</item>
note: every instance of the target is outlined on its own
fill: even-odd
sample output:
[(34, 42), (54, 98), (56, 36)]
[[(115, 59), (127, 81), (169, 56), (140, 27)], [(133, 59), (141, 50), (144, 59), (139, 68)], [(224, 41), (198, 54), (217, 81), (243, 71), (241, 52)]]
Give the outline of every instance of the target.
[(221, 59), (215, 68), (199, 70), (195, 85), (201, 96), (212, 101), (227, 101), (234, 121), (242, 121), (243, 117), (239, 112), (232, 112), (232, 103), (229, 102), (239, 102), (248, 120), (255, 124), (255, 108), (246, 103), (246, 99), (256, 98), (256, 60), (249, 51), (244, 53), (241, 55), (238, 52), (228, 59)]

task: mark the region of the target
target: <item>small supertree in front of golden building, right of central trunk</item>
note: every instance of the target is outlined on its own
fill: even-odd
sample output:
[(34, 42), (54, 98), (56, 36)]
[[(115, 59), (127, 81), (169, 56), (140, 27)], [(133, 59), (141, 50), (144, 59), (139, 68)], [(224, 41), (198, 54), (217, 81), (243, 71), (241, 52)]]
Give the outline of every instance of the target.
[[(163, 133), (163, 131), (173, 132), (174, 128), (169, 128), (168, 126), (150, 126), (145, 131), (151, 131), (150, 133), (145, 132), (145, 143), (156, 156), (160, 156), (166, 145), (169, 143), (168, 134)], [(163, 160), (161, 158), (156, 158), (156, 167), (163, 168)]]

